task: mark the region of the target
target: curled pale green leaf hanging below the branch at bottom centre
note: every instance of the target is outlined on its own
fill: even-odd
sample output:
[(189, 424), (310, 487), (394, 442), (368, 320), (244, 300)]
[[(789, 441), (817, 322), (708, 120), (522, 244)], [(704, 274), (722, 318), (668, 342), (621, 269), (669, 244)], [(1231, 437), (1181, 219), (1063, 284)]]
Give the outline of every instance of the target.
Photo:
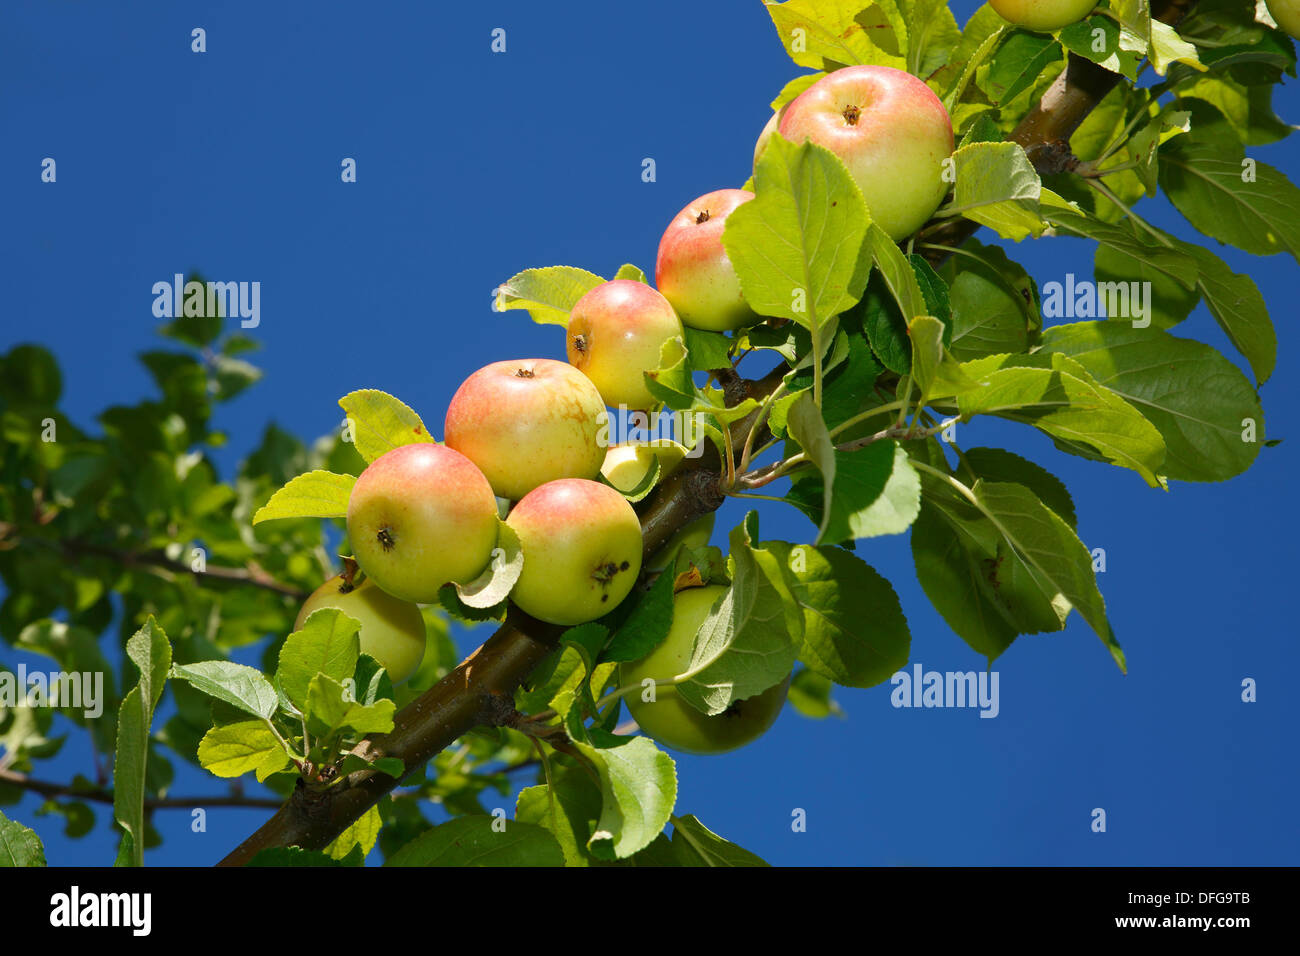
[(677, 803), (677, 769), (667, 753), (644, 736), (592, 732), (597, 745), (575, 741), (601, 780), (601, 817), (588, 840), (598, 860), (624, 860), (650, 845)]

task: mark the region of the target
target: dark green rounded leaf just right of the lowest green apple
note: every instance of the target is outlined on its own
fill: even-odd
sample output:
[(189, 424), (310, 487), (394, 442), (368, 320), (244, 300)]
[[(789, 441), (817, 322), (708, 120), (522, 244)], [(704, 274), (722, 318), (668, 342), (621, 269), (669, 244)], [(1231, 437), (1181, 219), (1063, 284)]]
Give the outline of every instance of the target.
[(803, 614), (801, 663), (844, 687), (875, 687), (907, 663), (907, 619), (870, 564), (842, 548), (768, 546), (789, 570)]

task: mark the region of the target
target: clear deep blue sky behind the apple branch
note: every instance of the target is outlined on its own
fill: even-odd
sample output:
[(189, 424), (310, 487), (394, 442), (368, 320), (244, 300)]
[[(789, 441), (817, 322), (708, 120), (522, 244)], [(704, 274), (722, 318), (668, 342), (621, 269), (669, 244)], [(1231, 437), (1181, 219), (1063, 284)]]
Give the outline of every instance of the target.
[[(974, 3), (953, 4), (965, 21)], [(190, 52), (207, 30), (208, 52)], [(490, 31), (507, 52), (490, 52)], [(49, 346), (82, 424), (152, 385), (151, 286), (200, 268), (261, 282), (265, 380), (224, 407), (225, 475), (268, 421), (315, 437), (335, 401), (377, 386), (441, 423), (455, 386), (489, 362), (563, 358), (555, 326), (490, 311), (516, 271), (653, 269), (680, 207), (738, 186), (768, 101), (800, 73), (753, 3), (651, 5), (6, 0), (0, 12), (0, 350)], [(1292, 85), (1279, 113), (1300, 118)], [(1253, 156), (1300, 179), (1294, 146)], [(58, 182), (39, 179), (58, 163)], [(359, 182), (339, 181), (358, 161)], [(653, 157), (658, 181), (641, 181)], [(1160, 203), (1144, 215), (1184, 229)], [(1010, 250), (1040, 284), (1089, 274), (1079, 241)], [(1269, 434), (1295, 431), (1295, 284), (1286, 256), (1222, 250), (1273, 304), (1279, 360)], [(1180, 329), (1223, 346), (1204, 308)], [(1231, 352), (1228, 352), (1231, 355)], [(439, 429), (441, 431), (441, 429)], [(1300, 672), (1291, 614), (1300, 470), (1294, 436), (1227, 485), (1175, 484), (1057, 453), (1023, 428), (975, 423), (962, 444), (1008, 444), (1066, 480), (1128, 654), (1122, 676), (1075, 618), (1022, 637), (996, 665), (1001, 713), (896, 710), (888, 685), (837, 691), (848, 719), (792, 710), (731, 756), (680, 757), (680, 812), (774, 864), (1295, 864)], [(742, 514), (724, 507), (718, 540)], [(793, 510), (764, 536), (811, 540)], [(979, 670), (915, 583), (907, 537), (859, 549), (893, 581), (913, 661)], [(465, 650), (471, 643), (463, 640)], [(0, 649), (12, 661), (9, 649)], [(1240, 701), (1243, 678), (1258, 702)], [(86, 771), (69, 745), (42, 773)], [(177, 763), (174, 792), (220, 784)], [(114, 842), (65, 840), (26, 799), (58, 864), (108, 864)], [(511, 808), (511, 801), (500, 801)], [(1109, 830), (1089, 830), (1093, 808)], [(794, 808), (807, 831), (792, 832)], [(155, 864), (218, 860), (265, 812), (160, 814)], [(372, 858), (377, 858), (378, 853)]]

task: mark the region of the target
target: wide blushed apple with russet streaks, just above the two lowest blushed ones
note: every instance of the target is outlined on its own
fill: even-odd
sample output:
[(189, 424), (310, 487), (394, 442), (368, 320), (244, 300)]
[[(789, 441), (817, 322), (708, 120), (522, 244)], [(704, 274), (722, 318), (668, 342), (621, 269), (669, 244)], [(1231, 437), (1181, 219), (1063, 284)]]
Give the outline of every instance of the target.
[(456, 389), (443, 437), (499, 497), (519, 501), (547, 481), (594, 479), (606, 414), (592, 380), (566, 362), (494, 362)]

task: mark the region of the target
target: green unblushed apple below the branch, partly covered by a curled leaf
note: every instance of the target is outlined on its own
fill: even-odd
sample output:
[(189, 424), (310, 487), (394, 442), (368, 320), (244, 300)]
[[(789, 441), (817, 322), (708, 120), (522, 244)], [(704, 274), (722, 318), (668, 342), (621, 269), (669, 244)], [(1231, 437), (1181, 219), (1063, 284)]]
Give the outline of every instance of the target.
[[(640, 661), (619, 666), (619, 685), (638, 685), (644, 680), (668, 680), (685, 672), (696, 635), (727, 588), (711, 584), (677, 592), (672, 600), (672, 627), (663, 644)], [(790, 679), (770, 687), (754, 697), (732, 702), (714, 717), (696, 710), (677, 696), (673, 685), (655, 688), (653, 701), (644, 691), (629, 692), (624, 700), (637, 726), (664, 747), (685, 753), (725, 753), (762, 736), (775, 723)]]

